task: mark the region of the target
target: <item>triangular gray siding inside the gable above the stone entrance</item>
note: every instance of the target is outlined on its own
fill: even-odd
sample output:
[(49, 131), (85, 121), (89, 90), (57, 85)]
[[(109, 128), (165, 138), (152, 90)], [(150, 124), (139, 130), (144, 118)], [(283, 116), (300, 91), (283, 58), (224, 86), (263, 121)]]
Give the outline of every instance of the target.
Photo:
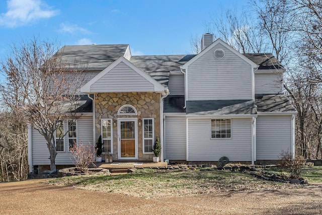
[(133, 91), (153, 92), (154, 85), (123, 62), (120, 62), (91, 86), (91, 92)]

